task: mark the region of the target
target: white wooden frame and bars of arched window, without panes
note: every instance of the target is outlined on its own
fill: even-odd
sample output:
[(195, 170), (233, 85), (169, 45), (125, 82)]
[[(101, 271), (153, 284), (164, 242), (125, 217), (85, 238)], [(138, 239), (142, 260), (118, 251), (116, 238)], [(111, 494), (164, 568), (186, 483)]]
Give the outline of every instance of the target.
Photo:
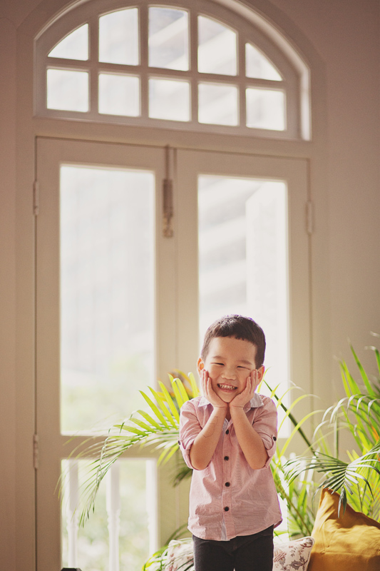
[[(219, 4), (219, 5), (218, 5)], [(91, 121), (96, 123), (116, 123), (130, 126), (145, 126), (170, 128), (181, 131), (197, 131), (203, 133), (225, 133), (260, 138), (287, 138), (309, 140), (310, 138), (310, 104), (309, 104), (309, 70), (294, 48), (280, 34), (274, 34), (274, 29), (266, 29), (263, 21), (228, 9), (227, 2), (219, 3), (203, 0), (190, 7), (184, 1), (168, 0), (167, 2), (149, 2), (148, 0), (94, 0), (79, 4), (61, 14), (58, 19), (46, 24), (36, 36), (35, 50), (35, 82), (34, 82), (34, 112), (36, 116), (50, 118), (74, 119), (76, 121)], [(148, 6), (173, 6), (185, 9), (189, 13), (190, 24), (190, 70), (178, 71), (148, 67)], [(117, 9), (138, 6), (140, 26), (140, 65), (127, 66), (121, 64), (98, 63), (98, 17)], [(197, 16), (210, 17), (220, 21), (225, 26), (237, 31), (237, 76), (218, 74), (203, 74), (197, 71)], [(250, 11), (250, 15), (252, 15)], [(257, 15), (256, 15), (257, 16)], [(252, 21), (256, 20), (256, 21)], [(48, 53), (56, 44), (71, 31), (83, 24), (89, 25), (89, 59), (88, 61), (58, 59), (48, 57)], [(282, 81), (252, 79), (245, 76), (245, 44), (257, 46), (265, 56), (272, 61), (283, 77)], [(88, 71), (89, 73), (89, 110), (61, 111), (49, 109), (46, 105), (46, 70), (68, 69)], [(101, 72), (125, 73), (140, 76), (141, 116), (113, 116), (98, 113), (98, 74)], [(148, 117), (148, 78), (186, 79), (190, 81), (191, 117), (190, 121), (168, 121)], [(199, 123), (197, 121), (197, 85), (200, 82), (235, 85), (239, 89), (238, 126), (222, 126)], [(285, 128), (284, 131), (267, 128), (250, 128), (245, 126), (245, 89), (247, 87), (280, 89), (285, 95)]]

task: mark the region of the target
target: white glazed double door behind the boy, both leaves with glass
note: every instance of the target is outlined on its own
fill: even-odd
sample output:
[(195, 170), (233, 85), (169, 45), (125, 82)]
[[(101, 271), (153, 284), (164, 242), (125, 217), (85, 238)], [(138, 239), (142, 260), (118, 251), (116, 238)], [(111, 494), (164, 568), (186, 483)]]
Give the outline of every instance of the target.
[[(174, 233), (167, 237), (165, 148), (38, 139), (38, 571), (59, 570), (62, 561), (73, 566), (61, 557), (71, 519), (61, 522), (54, 493), (62, 460), (91, 428), (141, 408), (138, 389), (175, 368), (195, 371), (210, 320), (221, 313), (256, 318), (269, 330), (272, 378), (309, 386), (305, 162), (185, 150), (174, 155)], [(67, 444), (71, 433), (77, 438)], [(150, 522), (136, 512), (133, 527), (150, 527), (152, 549), (185, 522), (187, 491), (173, 492), (168, 470), (136, 470), (155, 505), (148, 509)], [(132, 493), (143, 494), (136, 486)], [(120, 541), (129, 529), (121, 525)], [(103, 528), (107, 532), (107, 522)], [(128, 568), (137, 543), (123, 547)], [(103, 555), (96, 555), (99, 571), (108, 568)], [(84, 555), (78, 557), (84, 571)]]

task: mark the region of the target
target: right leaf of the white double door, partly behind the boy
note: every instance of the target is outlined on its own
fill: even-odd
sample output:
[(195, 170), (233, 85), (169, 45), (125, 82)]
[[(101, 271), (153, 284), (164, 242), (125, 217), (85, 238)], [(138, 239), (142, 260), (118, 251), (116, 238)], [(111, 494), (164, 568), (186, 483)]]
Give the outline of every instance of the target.
[[(232, 153), (214, 153), (205, 151), (183, 151), (177, 153), (177, 184), (178, 193), (180, 196), (185, 197), (184, 200), (178, 204), (178, 224), (181, 228), (181, 233), (178, 233), (178, 290), (182, 291), (186, 287), (186, 283), (191, 283), (191, 293), (186, 298), (179, 298), (178, 306), (178, 321), (180, 324), (185, 323), (189, 330), (200, 330), (200, 341), (204, 334), (204, 329), (210, 325), (210, 319), (207, 317), (202, 323), (200, 328), (200, 290), (198, 289), (198, 280), (200, 280), (200, 287), (205, 278), (205, 273), (202, 277), (199, 268), (200, 257), (202, 251), (198, 252), (198, 243), (202, 249), (202, 234), (198, 235), (198, 224), (201, 228), (202, 225), (202, 200), (206, 201), (210, 209), (210, 200), (213, 200), (211, 212), (214, 218), (217, 216), (216, 209), (217, 203), (225, 202), (225, 210), (231, 208), (229, 205), (234, 204), (233, 208), (238, 208), (237, 204), (242, 201), (242, 206), (245, 208), (244, 216), (237, 213), (237, 217), (233, 218), (228, 213), (225, 219), (225, 231), (223, 226), (220, 226), (219, 236), (217, 233), (212, 233), (205, 230), (204, 243), (207, 246), (207, 241), (220, 241), (220, 250), (228, 247), (226, 242), (226, 234), (241, 231), (239, 225), (245, 225), (245, 248), (246, 255), (244, 259), (245, 269), (239, 266), (235, 256), (235, 265), (231, 265), (232, 272), (239, 273), (242, 271), (247, 272), (245, 276), (245, 296), (247, 303), (242, 304), (242, 300), (237, 299), (234, 303), (226, 304), (226, 311), (223, 313), (240, 313), (242, 308), (253, 314), (252, 318), (256, 318), (258, 323), (264, 319), (262, 311), (255, 311), (250, 306), (250, 298), (257, 298), (262, 292), (262, 304), (269, 303), (267, 313), (272, 311), (272, 306), (275, 305), (273, 300), (265, 301), (265, 280), (263, 274), (268, 274), (269, 269), (265, 268), (269, 258), (265, 256), (262, 251), (256, 252), (255, 255), (252, 251), (258, 248), (263, 250), (268, 247), (268, 241), (277, 241), (277, 280), (288, 281), (287, 288), (282, 288), (279, 293), (274, 289), (273, 295), (277, 298), (282, 298), (282, 308), (286, 307), (288, 318), (284, 320), (284, 315), (279, 317), (281, 325), (281, 335), (284, 333), (288, 337), (289, 345), (289, 371), (287, 366), (283, 368), (282, 357), (277, 355), (278, 351), (282, 350), (282, 337), (279, 335), (278, 350), (272, 353), (272, 348), (268, 347), (267, 356), (272, 359), (272, 363), (266, 363), (267, 366), (274, 369), (274, 361), (279, 361), (277, 365), (276, 377), (279, 378), (276, 382), (281, 380), (288, 382), (289, 378), (308, 391), (310, 386), (310, 345), (309, 345), (309, 244), (308, 236), (305, 226), (305, 204), (307, 202), (307, 162), (302, 160), (293, 160), (287, 158), (268, 158), (258, 156), (237, 155)], [(211, 188), (208, 198), (202, 199), (202, 185), (205, 186), (207, 178), (214, 186)], [(235, 188), (234, 188), (235, 184)], [(286, 195), (284, 189), (286, 188)], [(282, 197), (270, 206), (273, 197), (279, 194), (278, 191), (282, 189)], [(214, 198), (211, 198), (211, 196)], [(218, 198), (218, 196), (220, 198)], [(231, 202), (235, 196), (235, 202)], [(242, 197), (242, 198), (241, 198)], [(284, 203), (286, 197), (286, 203)], [(230, 201), (230, 203), (228, 202)], [(199, 203), (199, 204), (198, 204)], [(215, 210), (213, 210), (215, 208)], [(270, 212), (268, 211), (270, 208)], [(205, 211), (207, 208), (205, 207)], [(266, 213), (267, 212), (267, 213)], [(280, 216), (284, 213), (285, 218)], [(269, 214), (270, 213), (270, 217)], [(221, 216), (225, 216), (223, 213)], [(239, 217), (240, 216), (240, 217)], [(199, 218), (199, 220), (198, 220)], [(195, 222), (197, 221), (197, 223)], [(265, 231), (265, 223), (267, 226), (276, 226), (275, 233), (268, 235), (268, 238), (263, 239), (262, 234)], [(280, 228), (286, 225), (287, 228)], [(207, 225), (206, 225), (207, 226)], [(210, 224), (208, 225), (210, 226)], [(234, 230), (235, 228), (235, 230)], [(214, 226), (214, 230), (217, 227)], [(287, 244), (282, 243), (287, 236)], [(282, 238), (283, 237), (283, 238)], [(211, 248), (212, 246), (210, 246)], [(209, 249), (210, 249), (209, 248)], [(215, 244), (215, 251), (217, 250), (217, 243)], [(234, 254), (232, 254), (232, 257)], [(281, 258), (284, 258), (281, 261)], [(256, 262), (255, 262), (256, 261)], [(215, 263), (215, 260), (210, 259), (210, 264)], [(255, 263), (255, 268), (252, 265)], [(271, 262), (271, 266), (273, 263)], [(215, 266), (220, 267), (220, 263), (215, 263)], [(287, 266), (287, 268), (285, 267)], [(227, 266), (226, 266), (227, 267)], [(207, 268), (205, 268), (207, 270)], [(272, 271), (273, 268), (271, 267)], [(218, 274), (214, 274), (215, 280), (218, 279)], [(227, 276), (225, 276), (227, 277)], [(237, 290), (237, 283), (235, 278), (231, 275), (228, 276), (231, 283), (232, 290)], [(265, 276), (264, 276), (265, 277)], [(219, 275), (220, 278), (220, 275)], [(258, 292), (255, 293), (255, 281), (262, 283)], [(235, 285), (234, 285), (235, 284)], [(209, 283), (210, 285), (210, 283)], [(270, 285), (270, 284), (269, 284)], [(210, 285), (210, 287), (212, 284)], [(287, 291), (286, 291), (287, 290)], [(284, 298), (284, 291), (286, 291), (287, 299)], [(210, 290), (210, 297), (218, 295), (217, 288)], [(204, 305), (204, 304), (203, 304)], [(253, 305), (255, 308), (255, 305)], [(260, 308), (261, 309), (261, 308)], [(265, 312), (264, 312), (265, 313)], [(279, 313), (279, 312), (277, 312)], [(260, 317), (257, 317), (257, 314)], [(211, 314), (210, 314), (211, 315)], [(220, 315), (213, 315), (216, 318)], [(209, 320), (207, 320), (209, 319)], [(288, 321), (288, 323), (286, 323)], [(264, 325), (263, 325), (264, 327)], [(289, 331), (289, 334), (288, 334)], [(194, 367), (191, 363), (195, 363), (199, 351), (199, 345), (196, 345), (195, 338), (190, 339), (181, 336), (179, 346), (179, 359), (180, 362), (187, 363), (186, 359), (190, 359), (188, 367)], [(200, 342), (199, 341), (199, 342)], [(199, 343), (198, 342), (198, 343)], [(191, 353), (189, 351), (191, 348)], [(271, 355), (272, 353), (272, 355)]]

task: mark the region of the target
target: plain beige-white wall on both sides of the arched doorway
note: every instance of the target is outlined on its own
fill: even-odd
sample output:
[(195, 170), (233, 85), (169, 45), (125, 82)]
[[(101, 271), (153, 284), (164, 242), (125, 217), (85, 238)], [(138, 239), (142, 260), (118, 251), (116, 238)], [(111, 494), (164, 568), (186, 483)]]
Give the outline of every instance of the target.
[[(52, 0), (49, 6), (63, 4)], [(373, 343), (369, 332), (380, 333), (379, 2), (251, 4), (282, 27), (312, 66), (314, 387), (329, 399), (340, 389), (334, 355), (349, 357), (347, 337), (364, 355), (364, 346)], [(24, 284), (32, 281), (34, 259), (31, 202), (25, 198), (31, 196), (33, 182), (33, 138), (28, 131), (21, 136), (15, 107), (17, 80), (23, 106), (17, 117), (31, 115), (23, 92), (24, 77), (29, 76), (23, 71), (16, 78), (16, 29), (21, 26), (22, 31), (27, 18), (41, 21), (47, 5), (3, 0), (0, 6), (0, 553), (1, 565), (6, 562), (7, 570), (19, 571), (34, 564), (33, 534), (27, 532), (34, 524), (33, 295), (23, 293)], [(42, 11), (34, 10), (38, 6)], [(20, 220), (28, 224), (20, 226)], [(374, 370), (372, 361), (366, 362)]]

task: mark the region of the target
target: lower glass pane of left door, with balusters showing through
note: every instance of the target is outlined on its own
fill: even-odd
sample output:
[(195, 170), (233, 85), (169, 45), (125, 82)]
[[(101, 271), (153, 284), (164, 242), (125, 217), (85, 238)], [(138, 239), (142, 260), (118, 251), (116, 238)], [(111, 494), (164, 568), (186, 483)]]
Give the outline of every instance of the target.
[[(152, 462), (154, 460), (118, 460), (113, 469), (113, 479), (108, 479), (109, 473), (101, 482), (95, 512), (91, 513), (84, 527), (78, 527), (78, 516), (86, 494), (79, 497), (79, 501), (78, 495), (84, 491), (91, 463), (88, 460), (63, 460), (63, 567), (88, 571), (108, 571), (119, 568), (119, 565), (125, 570), (142, 568), (150, 552), (150, 514), (147, 511), (150, 505), (147, 500), (150, 487), (148, 464)], [(77, 511), (73, 514), (75, 507)], [(111, 565), (111, 560), (119, 565)]]

